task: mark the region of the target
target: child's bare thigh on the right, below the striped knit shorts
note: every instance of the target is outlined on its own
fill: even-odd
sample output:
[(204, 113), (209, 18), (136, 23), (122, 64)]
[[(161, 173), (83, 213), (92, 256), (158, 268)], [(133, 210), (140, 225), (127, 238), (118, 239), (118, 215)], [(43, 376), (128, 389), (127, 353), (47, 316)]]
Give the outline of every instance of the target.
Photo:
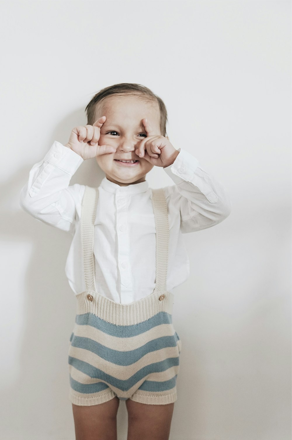
[(146, 405), (126, 400), (128, 410), (127, 440), (168, 440), (174, 403)]

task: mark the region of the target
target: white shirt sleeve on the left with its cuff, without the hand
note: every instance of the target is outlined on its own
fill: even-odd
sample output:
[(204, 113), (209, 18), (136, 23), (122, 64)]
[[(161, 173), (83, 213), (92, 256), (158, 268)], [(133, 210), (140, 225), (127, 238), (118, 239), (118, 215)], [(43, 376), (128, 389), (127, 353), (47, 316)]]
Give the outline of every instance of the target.
[(55, 141), (44, 159), (29, 172), (29, 180), (19, 198), (22, 209), (44, 223), (73, 234), (85, 187), (79, 184), (69, 187), (69, 182), (82, 162), (79, 154)]

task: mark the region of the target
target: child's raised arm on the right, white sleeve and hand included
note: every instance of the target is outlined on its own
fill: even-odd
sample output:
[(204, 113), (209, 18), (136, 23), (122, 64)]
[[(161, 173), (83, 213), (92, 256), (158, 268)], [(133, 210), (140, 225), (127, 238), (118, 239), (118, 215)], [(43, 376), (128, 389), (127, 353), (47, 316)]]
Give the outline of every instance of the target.
[(198, 231), (220, 223), (231, 211), (231, 202), (222, 183), (201, 168), (190, 153), (176, 150), (167, 137), (156, 135), (142, 119), (147, 137), (136, 154), (163, 167), (175, 186), (164, 189), (168, 204), (179, 210), (183, 233)]

